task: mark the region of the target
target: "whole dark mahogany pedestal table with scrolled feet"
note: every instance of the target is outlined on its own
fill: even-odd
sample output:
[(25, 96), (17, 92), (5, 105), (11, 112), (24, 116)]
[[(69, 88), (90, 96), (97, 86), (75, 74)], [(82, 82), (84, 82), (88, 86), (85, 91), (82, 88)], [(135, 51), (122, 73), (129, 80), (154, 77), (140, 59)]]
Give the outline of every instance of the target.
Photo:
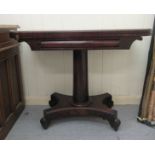
[(12, 32), (12, 37), (26, 41), (32, 50), (73, 50), (73, 95), (58, 92), (51, 95), (50, 108), (44, 110), (40, 120), (42, 127), (47, 129), (52, 120), (64, 117), (98, 116), (117, 131), (121, 122), (112, 109), (112, 95), (89, 96), (88, 51), (129, 49), (135, 40), (150, 33), (150, 29)]

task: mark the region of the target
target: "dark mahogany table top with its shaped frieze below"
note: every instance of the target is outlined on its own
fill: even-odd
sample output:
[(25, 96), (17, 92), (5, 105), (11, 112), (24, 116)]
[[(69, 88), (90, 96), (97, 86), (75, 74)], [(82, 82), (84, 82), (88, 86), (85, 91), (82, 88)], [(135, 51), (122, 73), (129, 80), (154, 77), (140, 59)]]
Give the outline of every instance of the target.
[(135, 40), (150, 34), (151, 29), (11, 32), (19, 41), (26, 41), (32, 50), (129, 49)]

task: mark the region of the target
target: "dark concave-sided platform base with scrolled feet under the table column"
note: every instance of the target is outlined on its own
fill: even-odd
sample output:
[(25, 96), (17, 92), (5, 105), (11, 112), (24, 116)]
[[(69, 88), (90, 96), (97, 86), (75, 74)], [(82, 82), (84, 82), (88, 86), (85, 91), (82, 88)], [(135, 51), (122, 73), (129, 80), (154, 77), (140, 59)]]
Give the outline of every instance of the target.
[(111, 109), (113, 101), (108, 93), (90, 96), (86, 103), (81, 104), (74, 102), (72, 96), (54, 93), (49, 105), (51, 108), (44, 110), (44, 116), (40, 120), (44, 129), (48, 128), (52, 120), (70, 116), (98, 116), (107, 120), (115, 131), (120, 125), (117, 111)]

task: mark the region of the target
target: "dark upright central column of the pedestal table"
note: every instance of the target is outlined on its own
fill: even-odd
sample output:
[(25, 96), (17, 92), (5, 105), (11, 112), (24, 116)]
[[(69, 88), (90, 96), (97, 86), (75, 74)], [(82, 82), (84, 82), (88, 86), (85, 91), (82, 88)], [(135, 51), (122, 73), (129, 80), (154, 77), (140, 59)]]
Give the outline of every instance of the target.
[(73, 53), (73, 105), (87, 106), (88, 101), (88, 56), (87, 50)]

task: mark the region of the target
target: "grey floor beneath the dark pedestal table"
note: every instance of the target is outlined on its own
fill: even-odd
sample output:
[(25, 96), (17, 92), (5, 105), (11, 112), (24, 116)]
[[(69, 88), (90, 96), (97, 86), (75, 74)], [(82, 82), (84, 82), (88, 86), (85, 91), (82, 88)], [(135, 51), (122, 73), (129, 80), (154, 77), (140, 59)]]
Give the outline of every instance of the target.
[(42, 110), (47, 106), (27, 106), (8, 136), (7, 140), (120, 140), (120, 139), (155, 139), (155, 128), (138, 123), (138, 106), (116, 106), (121, 126), (115, 132), (107, 121), (101, 118), (76, 117), (53, 121), (44, 130), (40, 125)]

